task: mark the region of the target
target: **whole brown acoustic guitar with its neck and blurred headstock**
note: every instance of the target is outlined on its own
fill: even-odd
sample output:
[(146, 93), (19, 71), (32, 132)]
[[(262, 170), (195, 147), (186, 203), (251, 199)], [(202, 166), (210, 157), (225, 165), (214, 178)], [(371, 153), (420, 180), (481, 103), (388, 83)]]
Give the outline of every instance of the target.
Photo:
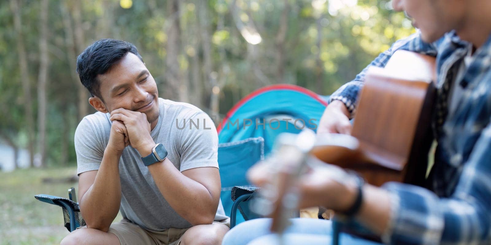
[(435, 78), (434, 57), (404, 50), (396, 51), (385, 68), (370, 67), (352, 135), (302, 131), (278, 137), (265, 160), (273, 181), (263, 186), (251, 208), (272, 217), (271, 230), (282, 233), (298, 208), (296, 182), (307, 166), (330, 168), (326, 177), (340, 183), (349, 178), (342, 169), (350, 169), (376, 186), (388, 181), (423, 186), (433, 140)]

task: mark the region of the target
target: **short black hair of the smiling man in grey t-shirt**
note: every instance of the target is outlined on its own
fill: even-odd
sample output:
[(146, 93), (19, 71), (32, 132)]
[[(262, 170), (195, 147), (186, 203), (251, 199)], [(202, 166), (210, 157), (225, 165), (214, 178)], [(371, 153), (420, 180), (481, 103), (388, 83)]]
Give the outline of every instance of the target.
[(77, 57), (77, 73), (79, 73), (83, 86), (92, 97), (97, 96), (102, 99), (97, 75), (106, 73), (128, 52), (134, 53), (143, 62), (135, 45), (116, 39), (96, 41)]

